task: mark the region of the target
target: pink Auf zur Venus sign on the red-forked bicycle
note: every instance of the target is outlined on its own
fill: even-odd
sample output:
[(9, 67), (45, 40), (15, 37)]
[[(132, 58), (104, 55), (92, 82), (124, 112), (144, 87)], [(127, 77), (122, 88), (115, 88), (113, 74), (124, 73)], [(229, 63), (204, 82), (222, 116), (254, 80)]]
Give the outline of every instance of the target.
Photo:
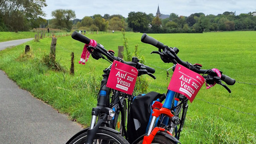
[(205, 79), (201, 75), (177, 64), (168, 89), (185, 95), (192, 103), (204, 82)]

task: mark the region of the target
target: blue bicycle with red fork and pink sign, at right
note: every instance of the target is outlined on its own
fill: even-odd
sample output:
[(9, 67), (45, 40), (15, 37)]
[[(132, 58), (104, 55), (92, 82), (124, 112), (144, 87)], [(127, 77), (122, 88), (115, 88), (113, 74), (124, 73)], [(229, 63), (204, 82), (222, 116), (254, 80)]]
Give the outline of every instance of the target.
[[(161, 60), (164, 63), (174, 63), (175, 66), (173, 68), (174, 70), (174, 76), (178, 76), (179, 73), (182, 73), (181, 70), (178, 69), (188, 69), (188, 73), (196, 73), (196, 74), (203, 74), (203, 76), (200, 78), (200, 76), (197, 75), (196, 78), (204, 79), (206, 80), (207, 88), (210, 88), (214, 86), (215, 84), (220, 84), (228, 92), (231, 92), (231, 90), (222, 83), (224, 81), (228, 85), (233, 85), (236, 83), (236, 80), (231, 79), (230, 77), (222, 74), (222, 71), (219, 71), (216, 68), (213, 69), (201, 69), (202, 65), (200, 64), (191, 64), (189, 62), (182, 61), (178, 56), (179, 50), (177, 47), (168, 47), (167, 45), (164, 45), (163, 43), (159, 42), (158, 40), (154, 39), (153, 37), (150, 37), (146, 35), (145, 33), (141, 37), (141, 41), (144, 43), (151, 44), (153, 46), (156, 46), (158, 48), (158, 51), (153, 51), (153, 54), (159, 54)], [(178, 68), (177, 68), (178, 67)], [(185, 67), (185, 68), (184, 68)], [(179, 71), (179, 73), (176, 73), (176, 70)], [(187, 74), (187, 73), (186, 73)], [(194, 75), (194, 74), (193, 74)], [(173, 80), (172, 78), (172, 80)], [(146, 134), (140, 136), (136, 141), (133, 143), (151, 143), (151, 142), (158, 142), (158, 143), (180, 143), (180, 132), (182, 131), (186, 112), (188, 108), (187, 101), (190, 102), (193, 101), (193, 99), (196, 97), (197, 92), (195, 92), (195, 88), (201, 88), (198, 85), (194, 83), (193, 86), (189, 86), (190, 79), (186, 79), (184, 75), (178, 77), (181, 82), (181, 86), (179, 86), (179, 89), (170, 87), (171, 82), (168, 86), (168, 90), (166, 93), (166, 99), (164, 103), (156, 108), (153, 109), (152, 112), (152, 118), (150, 122), (149, 128), (146, 131)], [(193, 77), (191, 77), (193, 78)], [(195, 78), (195, 79), (196, 79)], [(172, 83), (172, 86), (178, 85), (176, 83), (177, 79), (175, 79), (175, 82)], [(183, 81), (183, 82), (182, 82)], [(192, 81), (192, 79), (191, 79)], [(186, 83), (185, 83), (186, 82)], [(204, 81), (203, 81), (204, 83)], [(202, 84), (203, 84), (202, 83)], [(187, 85), (186, 85), (187, 84)], [(209, 84), (209, 85), (208, 85)], [(182, 87), (183, 85), (183, 87)], [(194, 88), (194, 89), (193, 89)], [(189, 95), (189, 93), (191, 95)], [(195, 93), (195, 94), (194, 94)], [(193, 95), (194, 94), (194, 95)], [(191, 99), (191, 97), (194, 97)]]

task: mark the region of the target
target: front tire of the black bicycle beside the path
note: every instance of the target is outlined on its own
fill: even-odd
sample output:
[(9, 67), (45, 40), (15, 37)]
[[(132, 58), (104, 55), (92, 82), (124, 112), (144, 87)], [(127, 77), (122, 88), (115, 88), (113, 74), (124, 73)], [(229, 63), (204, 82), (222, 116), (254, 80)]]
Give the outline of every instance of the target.
[[(69, 144), (79, 144), (82, 141), (86, 141), (87, 131), (75, 137)], [(115, 143), (115, 144), (125, 144), (129, 143), (126, 141), (120, 134), (107, 131), (104, 129), (98, 129), (97, 133), (94, 136), (93, 143)]]

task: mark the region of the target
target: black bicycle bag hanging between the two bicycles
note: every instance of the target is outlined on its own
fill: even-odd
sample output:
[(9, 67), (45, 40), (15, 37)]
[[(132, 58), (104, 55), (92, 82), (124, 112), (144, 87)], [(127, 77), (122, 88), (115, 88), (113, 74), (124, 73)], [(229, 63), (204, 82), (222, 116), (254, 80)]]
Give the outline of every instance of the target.
[(152, 104), (161, 95), (163, 94), (149, 92), (145, 95), (138, 95), (133, 99), (127, 122), (127, 135), (130, 143), (146, 133), (152, 113)]

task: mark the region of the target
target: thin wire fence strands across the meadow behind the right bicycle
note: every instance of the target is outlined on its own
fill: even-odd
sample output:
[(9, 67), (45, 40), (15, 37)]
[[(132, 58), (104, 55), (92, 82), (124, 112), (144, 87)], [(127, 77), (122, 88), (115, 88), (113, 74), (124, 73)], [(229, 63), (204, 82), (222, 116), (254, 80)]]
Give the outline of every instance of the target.
[[(159, 66), (150, 64), (150, 63), (145, 63), (145, 64), (151, 65), (151, 66), (156, 67), (156, 68), (159, 68), (159, 69), (166, 70), (167, 73), (168, 73), (168, 71), (169, 71), (170, 69), (172, 69), (172, 68), (175, 66), (175, 65), (174, 65), (174, 66), (172, 66), (172, 67), (170, 67), (170, 68), (168, 68), (168, 69), (165, 69), (165, 68), (162, 68), (162, 67), (159, 67)], [(246, 82), (237, 82), (237, 83), (240, 83), (240, 84), (249, 84), (249, 85), (256, 85), (256, 84), (253, 84), (253, 83), (246, 83)], [(158, 87), (158, 86), (151, 85), (151, 84), (149, 84), (149, 85), (150, 85), (151, 87), (155, 87), (155, 88), (163, 89), (163, 90), (166, 90), (166, 88), (167, 88), (167, 87), (166, 87), (166, 88)], [(226, 107), (226, 106), (221, 105), (221, 104), (218, 104), (218, 103), (211, 103), (211, 102), (205, 101), (205, 100), (203, 100), (203, 99), (197, 99), (197, 98), (195, 98), (195, 99), (196, 99), (196, 100), (203, 101), (203, 102), (208, 103), (208, 104), (211, 104), (211, 105), (218, 105), (218, 106), (221, 106), (221, 107), (223, 107), (223, 108), (226, 108), (226, 109), (229, 109), (229, 110), (232, 110), (232, 111), (236, 111), (236, 112), (239, 112), (239, 113), (243, 113), (243, 114), (247, 114), (247, 115), (256, 116), (256, 114), (248, 113), (248, 112), (243, 112), (243, 111), (240, 111), (240, 110), (236, 110), (236, 109), (233, 109), (233, 108), (229, 108), (229, 107)]]

